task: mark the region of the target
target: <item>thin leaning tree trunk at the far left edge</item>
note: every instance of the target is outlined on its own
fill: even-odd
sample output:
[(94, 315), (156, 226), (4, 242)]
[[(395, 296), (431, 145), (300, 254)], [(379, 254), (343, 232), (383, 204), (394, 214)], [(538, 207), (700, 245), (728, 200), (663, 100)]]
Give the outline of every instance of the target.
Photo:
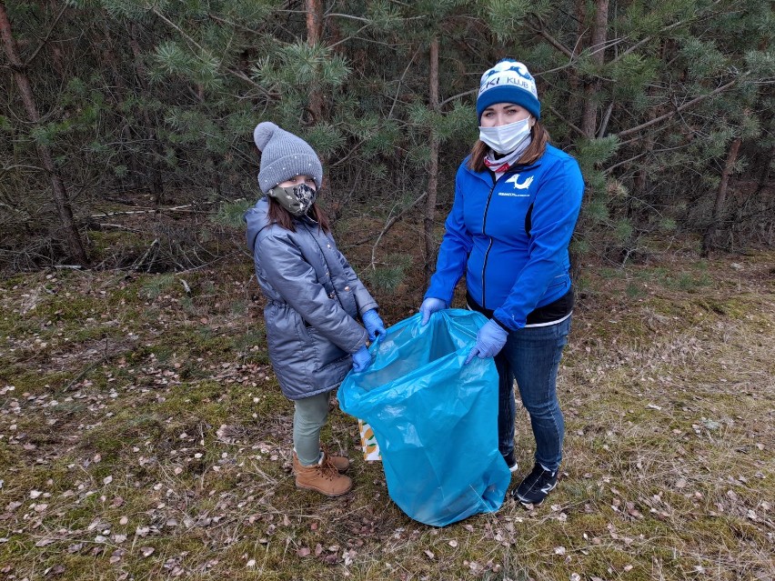
[[(0, 1), (0, 38), (3, 39), (5, 55), (7, 55), (11, 70), (14, 73), (14, 79), (16, 85), (19, 87), (19, 95), (21, 95), (22, 101), (25, 104), (27, 116), (29, 116), (30, 121), (37, 125), (40, 122), (40, 115), (38, 115), (37, 106), (35, 105), (32, 85), (26, 74), (26, 66), (22, 62), (18, 49), (16, 48), (14, 36), (11, 34), (11, 21), (8, 19), (8, 15), (5, 12), (5, 2), (2, 1)], [(81, 235), (78, 233), (78, 228), (75, 225), (73, 208), (70, 205), (70, 199), (67, 195), (65, 184), (56, 171), (51, 150), (46, 145), (42, 144), (37, 144), (36, 147), (41, 164), (51, 178), (51, 187), (54, 192), (54, 204), (56, 206), (56, 213), (59, 215), (59, 222), (62, 235), (65, 239), (67, 252), (70, 253), (70, 258), (79, 265), (88, 265), (89, 259), (86, 255), (84, 244), (81, 241)]]

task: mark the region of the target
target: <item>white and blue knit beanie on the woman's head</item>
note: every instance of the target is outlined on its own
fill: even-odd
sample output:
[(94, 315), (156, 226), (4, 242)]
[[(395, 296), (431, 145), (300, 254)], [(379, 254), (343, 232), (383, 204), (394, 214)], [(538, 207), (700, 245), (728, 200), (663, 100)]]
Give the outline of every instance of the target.
[(523, 106), (530, 115), (540, 119), (541, 104), (538, 102), (536, 79), (530, 75), (527, 66), (514, 59), (505, 58), (485, 71), (479, 83), (477, 119), (481, 119), (488, 106), (496, 103)]

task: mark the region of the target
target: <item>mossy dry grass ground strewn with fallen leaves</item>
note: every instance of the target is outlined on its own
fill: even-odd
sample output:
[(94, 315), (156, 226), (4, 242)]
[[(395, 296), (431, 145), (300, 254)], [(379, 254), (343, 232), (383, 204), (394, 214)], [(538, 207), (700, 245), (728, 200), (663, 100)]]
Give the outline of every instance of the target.
[[(443, 529), (389, 501), (338, 410), (324, 436), (354, 459), (354, 491), (294, 487), (250, 265), (15, 277), (0, 579), (772, 579), (773, 267), (771, 251), (585, 265), (558, 489)], [(403, 292), (379, 297), (389, 323), (419, 301)]]

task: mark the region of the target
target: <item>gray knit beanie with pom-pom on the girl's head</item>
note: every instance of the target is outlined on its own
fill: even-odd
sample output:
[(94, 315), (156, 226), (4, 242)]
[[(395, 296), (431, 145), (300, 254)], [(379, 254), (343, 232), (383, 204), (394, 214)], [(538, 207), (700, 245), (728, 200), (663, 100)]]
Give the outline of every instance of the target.
[(309, 175), (320, 189), (323, 165), (304, 139), (265, 121), (256, 125), (253, 141), (261, 152), (258, 186), (264, 194), (297, 175)]

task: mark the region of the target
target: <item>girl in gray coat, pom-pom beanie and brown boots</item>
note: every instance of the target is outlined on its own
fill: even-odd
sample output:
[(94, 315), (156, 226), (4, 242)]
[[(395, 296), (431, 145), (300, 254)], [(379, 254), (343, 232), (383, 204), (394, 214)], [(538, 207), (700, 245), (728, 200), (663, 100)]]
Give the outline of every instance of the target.
[(352, 487), (341, 474), (349, 461), (321, 449), (320, 429), (331, 391), (351, 368), (361, 372), (371, 364), (367, 339), (375, 341), (385, 326), (315, 204), (323, 179), (315, 151), (273, 123), (258, 124), (253, 139), (261, 152), (258, 185), (266, 197), (245, 215), (247, 246), (267, 297), (269, 360), (295, 406), (296, 486), (339, 496)]

